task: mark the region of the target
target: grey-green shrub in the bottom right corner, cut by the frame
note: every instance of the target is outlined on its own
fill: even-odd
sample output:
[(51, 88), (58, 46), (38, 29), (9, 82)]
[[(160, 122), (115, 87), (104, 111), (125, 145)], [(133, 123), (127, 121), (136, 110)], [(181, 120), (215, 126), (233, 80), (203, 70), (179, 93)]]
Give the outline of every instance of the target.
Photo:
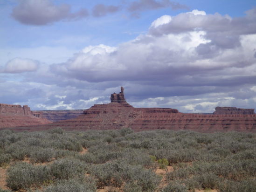
[(256, 179), (225, 180), (218, 185), (218, 192), (256, 192)]

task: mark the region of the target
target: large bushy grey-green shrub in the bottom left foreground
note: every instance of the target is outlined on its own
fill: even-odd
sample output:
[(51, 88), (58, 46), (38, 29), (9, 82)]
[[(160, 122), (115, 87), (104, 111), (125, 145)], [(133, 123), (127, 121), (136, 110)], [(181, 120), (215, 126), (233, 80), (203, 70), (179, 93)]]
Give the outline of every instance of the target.
[(7, 170), (7, 186), (12, 190), (28, 189), (31, 185), (40, 185), (50, 180), (46, 166), (33, 166), (27, 163), (18, 163)]

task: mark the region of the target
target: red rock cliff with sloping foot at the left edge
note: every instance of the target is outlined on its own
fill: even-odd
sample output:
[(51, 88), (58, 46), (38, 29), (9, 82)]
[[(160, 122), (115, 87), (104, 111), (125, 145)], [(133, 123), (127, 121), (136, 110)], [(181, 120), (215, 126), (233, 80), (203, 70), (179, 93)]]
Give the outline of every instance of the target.
[(35, 117), (28, 105), (0, 104), (0, 128), (29, 126), (51, 123), (43, 118)]

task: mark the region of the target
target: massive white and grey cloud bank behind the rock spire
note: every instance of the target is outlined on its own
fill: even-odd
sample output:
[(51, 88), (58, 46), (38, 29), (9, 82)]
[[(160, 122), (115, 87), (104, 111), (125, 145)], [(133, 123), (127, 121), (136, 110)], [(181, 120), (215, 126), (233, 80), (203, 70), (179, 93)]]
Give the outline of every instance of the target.
[(33, 83), (21, 98), (30, 93), (34, 109), (85, 109), (108, 103), (124, 86), (135, 107), (256, 108), (255, 18), (256, 9), (240, 18), (199, 10), (163, 15), (132, 41), (91, 45), (66, 62), (39, 67), (24, 78)]

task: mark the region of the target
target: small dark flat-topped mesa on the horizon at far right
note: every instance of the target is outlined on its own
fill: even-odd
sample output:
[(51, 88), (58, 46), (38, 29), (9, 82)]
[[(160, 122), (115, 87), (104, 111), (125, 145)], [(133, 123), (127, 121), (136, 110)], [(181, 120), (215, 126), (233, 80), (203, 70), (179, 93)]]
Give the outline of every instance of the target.
[(216, 107), (214, 115), (253, 115), (254, 109), (241, 109), (236, 107)]

